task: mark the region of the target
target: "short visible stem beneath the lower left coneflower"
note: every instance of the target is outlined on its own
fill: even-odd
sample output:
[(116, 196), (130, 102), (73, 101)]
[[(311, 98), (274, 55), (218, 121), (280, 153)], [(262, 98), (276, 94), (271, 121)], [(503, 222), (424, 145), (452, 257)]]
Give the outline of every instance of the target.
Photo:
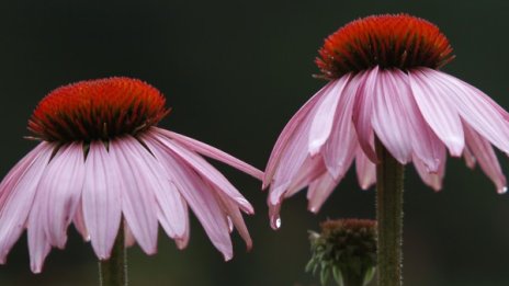
[(123, 224), (116, 234), (109, 260), (99, 261), (99, 281), (101, 286), (127, 285), (127, 253), (124, 244)]

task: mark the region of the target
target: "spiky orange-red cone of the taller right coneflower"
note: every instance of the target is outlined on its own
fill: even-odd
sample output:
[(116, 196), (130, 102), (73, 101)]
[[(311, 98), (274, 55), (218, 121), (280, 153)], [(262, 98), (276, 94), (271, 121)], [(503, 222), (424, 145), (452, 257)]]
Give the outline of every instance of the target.
[(350, 22), (330, 35), (318, 53), (316, 64), (328, 79), (375, 66), (437, 69), (454, 57), (448, 38), (436, 25), (408, 14)]

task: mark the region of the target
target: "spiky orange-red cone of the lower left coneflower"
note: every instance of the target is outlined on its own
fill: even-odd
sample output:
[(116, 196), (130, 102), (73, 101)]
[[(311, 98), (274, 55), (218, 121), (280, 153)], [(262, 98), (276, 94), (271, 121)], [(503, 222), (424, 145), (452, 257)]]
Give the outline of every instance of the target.
[(47, 141), (109, 140), (157, 124), (168, 113), (165, 103), (156, 88), (137, 79), (80, 81), (46, 95), (29, 129)]

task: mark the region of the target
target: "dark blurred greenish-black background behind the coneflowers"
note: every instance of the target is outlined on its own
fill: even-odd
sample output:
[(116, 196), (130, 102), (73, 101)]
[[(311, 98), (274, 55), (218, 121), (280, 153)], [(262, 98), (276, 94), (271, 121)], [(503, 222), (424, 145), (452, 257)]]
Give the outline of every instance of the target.
[[(31, 150), (26, 121), (52, 89), (83, 79), (128, 76), (160, 89), (173, 112), (161, 126), (208, 142), (263, 169), (290, 117), (324, 81), (312, 78), (324, 38), (357, 18), (407, 12), (436, 23), (456, 59), (443, 70), (478, 87), (509, 108), (509, 2), (478, 1), (14, 1), (0, 2), (0, 175)], [(509, 160), (500, 156), (502, 168)], [(374, 191), (359, 190), (353, 172), (319, 215), (305, 193), (282, 209), (282, 228), (269, 227), (260, 183), (217, 164), (253, 203), (246, 217), (250, 253), (234, 233), (225, 263), (197, 220), (184, 251), (162, 231), (147, 256), (129, 249), (131, 285), (312, 286), (304, 267), (307, 231), (339, 217), (374, 217)], [(407, 168), (405, 283), (509, 285), (509, 195), (462, 160), (448, 162), (444, 188), (434, 193)], [(0, 266), (0, 285), (97, 285), (90, 244), (69, 228), (64, 251), (44, 272), (30, 272), (25, 236)]]

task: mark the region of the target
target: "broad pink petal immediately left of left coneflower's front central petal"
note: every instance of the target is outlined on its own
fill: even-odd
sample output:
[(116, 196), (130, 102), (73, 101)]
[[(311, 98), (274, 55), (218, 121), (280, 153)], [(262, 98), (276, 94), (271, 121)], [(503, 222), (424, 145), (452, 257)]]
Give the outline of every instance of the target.
[(46, 217), (46, 236), (52, 245), (63, 249), (67, 227), (75, 217), (84, 179), (84, 152), (81, 142), (60, 147), (47, 165), (37, 186), (45, 190), (42, 215)]

